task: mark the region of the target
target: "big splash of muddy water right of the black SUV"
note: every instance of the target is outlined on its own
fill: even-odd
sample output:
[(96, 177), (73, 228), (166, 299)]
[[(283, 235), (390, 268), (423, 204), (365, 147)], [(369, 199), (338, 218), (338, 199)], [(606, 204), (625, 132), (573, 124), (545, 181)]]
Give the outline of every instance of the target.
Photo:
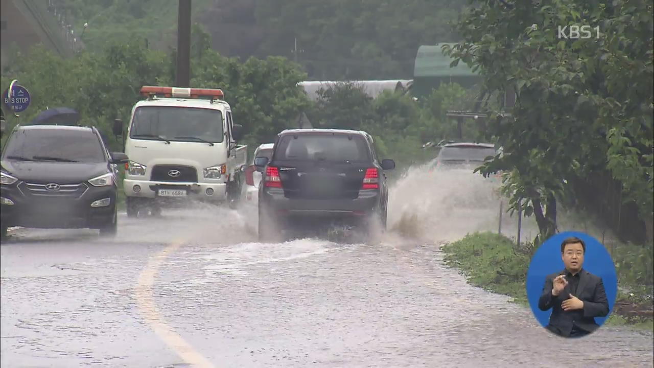
[[(396, 240), (450, 242), (475, 231), (498, 232), (521, 242), (538, 234), (533, 216), (520, 221), (508, 212), (508, 198), (499, 193), (500, 182), (476, 174), (471, 168), (432, 170), (428, 164), (412, 166), (390, 190), (388, 227)], [(501, 207), (500, 207), (501, 204)], [(558, 228), (583, 231), (598, 240), (613, 237), (587, 215), (557, 208)], [(500, 224), (501, 223), (501, 224)]]

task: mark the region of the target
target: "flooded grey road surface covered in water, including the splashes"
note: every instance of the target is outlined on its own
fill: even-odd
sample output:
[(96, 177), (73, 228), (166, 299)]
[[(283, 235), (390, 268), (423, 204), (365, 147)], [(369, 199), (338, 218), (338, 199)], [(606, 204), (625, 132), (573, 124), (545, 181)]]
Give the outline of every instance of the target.
[(0, 248), (0, 364), (651, 367), (651, 333), (570, 344), (443, 265), (443, 242), (497, 230), (491, 192), (479, 175), (410, 172), (380, 244), (262, 244), (230, 210), (122, 215), (114, 240), (20, 229)]

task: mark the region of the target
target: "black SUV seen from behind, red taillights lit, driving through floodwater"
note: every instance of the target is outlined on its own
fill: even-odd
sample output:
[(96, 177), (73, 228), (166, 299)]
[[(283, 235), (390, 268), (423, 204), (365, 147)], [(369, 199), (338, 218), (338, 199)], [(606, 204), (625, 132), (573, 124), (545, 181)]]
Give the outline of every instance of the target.
[(370, 134), (360, 130), (292, 129), (275, 139), (273, 155), (255, 159), (259, 238), (269, 241), (290, 225), (364, 225), (386, 228), (388, 186)]

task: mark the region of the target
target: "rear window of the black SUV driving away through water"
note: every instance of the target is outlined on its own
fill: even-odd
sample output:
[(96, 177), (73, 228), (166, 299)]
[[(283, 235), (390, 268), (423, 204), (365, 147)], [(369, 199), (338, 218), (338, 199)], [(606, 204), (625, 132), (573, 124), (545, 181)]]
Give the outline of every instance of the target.
[(369, 161), (366, 140), (358, 135), (298, 134), (280, 139), (275, 160)]

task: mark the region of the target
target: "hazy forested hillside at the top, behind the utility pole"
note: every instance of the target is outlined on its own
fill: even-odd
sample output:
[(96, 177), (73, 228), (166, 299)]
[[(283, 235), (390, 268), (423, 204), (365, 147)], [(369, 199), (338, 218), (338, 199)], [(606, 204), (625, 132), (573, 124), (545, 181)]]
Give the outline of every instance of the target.
[[(133, 34), (175, 46), (177, 0), (60, 0), (91, 50)], [(285, 56), (309, 79), (399, 79), (413, 76), (418, 46), (457, 41), (462, 4), (454, 0), (193, 0), (194, 22), (209, 29), (225, 56)]]

